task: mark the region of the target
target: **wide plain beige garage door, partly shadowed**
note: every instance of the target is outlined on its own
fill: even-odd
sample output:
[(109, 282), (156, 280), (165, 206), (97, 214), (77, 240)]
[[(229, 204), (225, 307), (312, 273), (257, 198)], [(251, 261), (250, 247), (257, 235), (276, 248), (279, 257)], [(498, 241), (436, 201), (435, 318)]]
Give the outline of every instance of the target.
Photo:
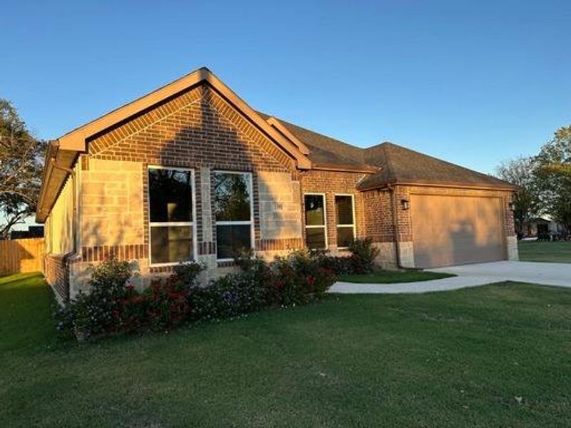
[(411, 195), (416, 267), (506, 258), (500, 198)]

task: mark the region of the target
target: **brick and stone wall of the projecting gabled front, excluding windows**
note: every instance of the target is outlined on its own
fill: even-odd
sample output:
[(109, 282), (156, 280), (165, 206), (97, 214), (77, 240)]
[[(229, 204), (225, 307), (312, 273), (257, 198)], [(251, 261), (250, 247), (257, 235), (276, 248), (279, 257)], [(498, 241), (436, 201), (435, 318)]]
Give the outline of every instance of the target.
[(148, 265), (149, 165), (194, 170), (197, 256), (208, 267), (217, 266), (213, 170), (252, 173), (257, 251), (303, 245), (295, 163), (208, 86), (98, 134), (80, 164), (81, 260), (74, 278), (111, 253), (137, 260), (143, 275), (171, 269)]

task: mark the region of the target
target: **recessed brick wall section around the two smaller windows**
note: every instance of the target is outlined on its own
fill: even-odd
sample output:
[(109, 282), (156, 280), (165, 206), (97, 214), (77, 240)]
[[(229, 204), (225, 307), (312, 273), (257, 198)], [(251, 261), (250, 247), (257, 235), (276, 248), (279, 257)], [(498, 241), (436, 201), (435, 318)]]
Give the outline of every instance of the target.
[[(309, 170), (300, 173), (301, 193), (325, 193), (327, 211), (327, 237), (330, 248), (337, 246), (337, 224), (335, 216), (335, 194), (352, 194), (355, 198), (355, 223), (358, 238), (365, 237), (365, 210), (363, 193), (355, 190), (355, 185), (363, 178), (363, 173), (341, 173), (334, 171)], [(305, 200), (302, 198), (302, 213), (305, 213)], [(303, 215), (303, 214), (302, 214)], [(305, 225), (305, 219), (303, 219)], [(305, 240), (305, 227), (303, 228)]]

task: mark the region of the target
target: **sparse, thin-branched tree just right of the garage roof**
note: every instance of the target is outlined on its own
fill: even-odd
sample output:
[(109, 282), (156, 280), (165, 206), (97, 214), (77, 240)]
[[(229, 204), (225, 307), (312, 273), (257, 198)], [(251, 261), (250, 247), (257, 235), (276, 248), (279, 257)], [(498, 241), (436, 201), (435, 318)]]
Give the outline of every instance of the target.
[(513, 217), (517, 235), (524, 234), (530, 218), (540, 214), (540, 190), (537, 186), (535, 158), (515, 158), (497, 168), (497, 176), (519, 187), (513, 198)]

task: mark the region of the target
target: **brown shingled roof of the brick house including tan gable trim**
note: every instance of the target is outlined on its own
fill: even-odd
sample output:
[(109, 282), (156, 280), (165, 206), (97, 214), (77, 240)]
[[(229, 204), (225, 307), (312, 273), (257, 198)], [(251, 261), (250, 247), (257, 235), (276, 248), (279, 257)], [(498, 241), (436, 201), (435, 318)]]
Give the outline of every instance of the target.
[(359, 190), (379, 188), (392, 183), (515, 189), (514, 185), (490, 175), (441, 161), (393, 143), (359, 148), (254, 111), (208, 68), (203, 67), (79, 126), (56, 141), (51, 141), (46, 152), (36, 221), (43, 223), (46, 220), (69, 175), (70, 168), (74, 167), (79, 154), (87, 151), (90, 138), (108, 131), (118, 123), (138, 116), (143, 111), (160, 106), (163, 101), (202, 83), (208, 84), (226, 98), (248, 121), (276, 143), (276, 146), (291, 156), (298, 168), (356, 171), (368, 174), (358, 184)]

